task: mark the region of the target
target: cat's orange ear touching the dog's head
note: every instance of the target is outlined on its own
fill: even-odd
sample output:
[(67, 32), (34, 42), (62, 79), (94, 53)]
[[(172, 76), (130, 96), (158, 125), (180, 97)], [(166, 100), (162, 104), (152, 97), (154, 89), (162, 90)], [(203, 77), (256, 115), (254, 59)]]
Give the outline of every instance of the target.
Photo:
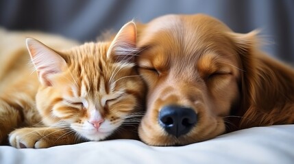
[(108, 49), (107, 57), (114, 59), (114, 61), (134, 62), (134, 55), (137, 53), (136, 49), (136, 24), (134, 21), (126, 23), (121, 29), (110, 48)]

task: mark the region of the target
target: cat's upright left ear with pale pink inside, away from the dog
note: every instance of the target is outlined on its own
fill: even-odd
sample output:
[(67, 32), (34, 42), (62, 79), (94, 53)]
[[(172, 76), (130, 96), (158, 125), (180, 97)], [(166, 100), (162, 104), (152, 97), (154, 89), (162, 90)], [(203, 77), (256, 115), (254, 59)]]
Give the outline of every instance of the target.
[(40, 83), (51, 86), (51, 75), (62, 72), (62, 68), (66, 66), (66, 61), (58, 53), (38, 40), (27, 38), (26, 43)]

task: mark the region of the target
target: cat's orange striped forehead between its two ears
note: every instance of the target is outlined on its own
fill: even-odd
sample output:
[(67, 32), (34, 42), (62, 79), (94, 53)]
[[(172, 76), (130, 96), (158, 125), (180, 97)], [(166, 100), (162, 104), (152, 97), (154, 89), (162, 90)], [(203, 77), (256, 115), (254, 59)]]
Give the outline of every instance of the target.
[[(66, 52), (77, 96), (108, 94), (113, 90), (115, 79), (123, 76), (125, 68), (130, 68), (107, 57), (109, 47), (110, 42), (90, 42)], [(120, 73), (116, 74), (117, 71)]]

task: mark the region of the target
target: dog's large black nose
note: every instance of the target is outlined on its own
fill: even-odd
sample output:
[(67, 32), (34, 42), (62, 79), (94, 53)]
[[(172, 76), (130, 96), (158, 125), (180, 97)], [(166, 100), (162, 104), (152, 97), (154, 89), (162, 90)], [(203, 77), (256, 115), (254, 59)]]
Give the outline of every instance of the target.
[(188, 133), (197, 122), (197, 114), (193, 109), (170, 105), (159, 111), (158, 121), (167, 133), (180, 137)]

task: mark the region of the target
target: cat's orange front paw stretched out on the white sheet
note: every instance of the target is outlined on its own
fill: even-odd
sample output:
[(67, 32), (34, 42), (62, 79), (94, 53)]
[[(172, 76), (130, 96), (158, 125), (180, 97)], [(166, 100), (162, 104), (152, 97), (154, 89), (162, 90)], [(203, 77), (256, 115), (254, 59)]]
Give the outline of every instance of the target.
[(15, 148), (49, 148), (74, 143), (71, 135), (57, 128), (19, 128), (9, 135), (9, 142)]

